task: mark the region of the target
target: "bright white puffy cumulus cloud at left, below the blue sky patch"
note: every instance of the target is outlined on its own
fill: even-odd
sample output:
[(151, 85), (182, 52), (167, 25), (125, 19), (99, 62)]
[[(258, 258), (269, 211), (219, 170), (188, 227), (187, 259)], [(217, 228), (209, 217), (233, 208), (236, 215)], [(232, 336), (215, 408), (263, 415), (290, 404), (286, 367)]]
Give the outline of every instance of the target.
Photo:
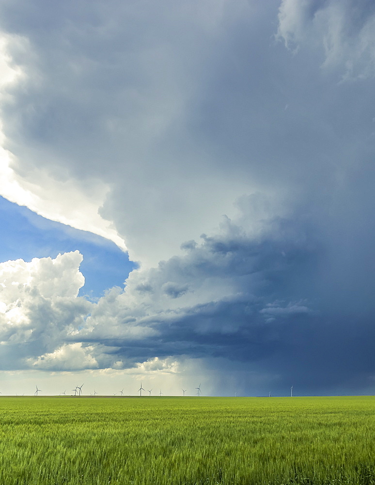
[(0, 353), (8, 366), (54, 351), (84, 324), (91, 304), (77, 296), (81, 261), (75, 251), (0, 264)]

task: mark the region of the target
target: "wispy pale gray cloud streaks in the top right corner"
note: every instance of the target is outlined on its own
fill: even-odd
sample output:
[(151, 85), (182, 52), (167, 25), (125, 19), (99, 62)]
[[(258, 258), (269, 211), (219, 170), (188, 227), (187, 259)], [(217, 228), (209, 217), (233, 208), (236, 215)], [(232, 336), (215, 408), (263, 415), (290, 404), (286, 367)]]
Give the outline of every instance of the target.
[(375, 75), (375, 6), (368, 0), (283, 0), (278, 37), (295, 51), (324, 49), (323, 67), (342, 71), (344, 80)]

